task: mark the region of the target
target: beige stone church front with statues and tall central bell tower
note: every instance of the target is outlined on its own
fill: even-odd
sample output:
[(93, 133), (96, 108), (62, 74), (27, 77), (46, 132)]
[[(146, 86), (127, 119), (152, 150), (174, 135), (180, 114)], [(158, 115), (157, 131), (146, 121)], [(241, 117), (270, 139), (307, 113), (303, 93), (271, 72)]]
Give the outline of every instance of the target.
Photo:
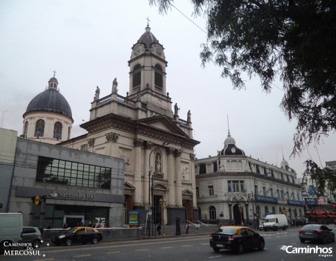
[(126, 96), (118, 93), (116, 79), (107, 96), (100, 97), (97, 87), (89, 121), (81, 125), (87, 134), (59, 145), (125, 161), (125, 224), (131, 210), (139, 211), (141, 224), (148, 214), (162, 224), (198, 219), (194, 147), (200, 142), (193, 139), (191, 112), (184, 120), (173, 106), (164, 48), (149, 26), (132, 46), (128, 64)]

